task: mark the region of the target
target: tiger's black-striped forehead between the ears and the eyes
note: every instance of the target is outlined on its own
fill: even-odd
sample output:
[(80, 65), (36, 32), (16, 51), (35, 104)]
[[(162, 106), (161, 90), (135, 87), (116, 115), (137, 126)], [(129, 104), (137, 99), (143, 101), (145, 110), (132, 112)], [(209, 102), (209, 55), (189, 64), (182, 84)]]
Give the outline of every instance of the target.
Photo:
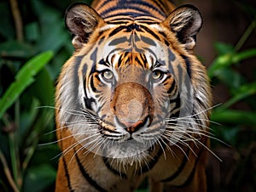
[[(155, 32), (157, 29), (157, 33)], [(98, 70), (120, 65), (142, 65), (143, 68), (153, 69), (156, 65), (170, 65), (177, 60), (172, 43), (166, 43), (163, 29), (160, 25), (138, 25), (131, 22), (125, 25), (104, 25), (91, 44), (85, 48), (84, 63), (96, 65)], [(104, 31), (104, 32), (103, 32)], [(165, 39), (165, 40), (163, 40)], [(97, 65), (104, 61), (104, 65)]]

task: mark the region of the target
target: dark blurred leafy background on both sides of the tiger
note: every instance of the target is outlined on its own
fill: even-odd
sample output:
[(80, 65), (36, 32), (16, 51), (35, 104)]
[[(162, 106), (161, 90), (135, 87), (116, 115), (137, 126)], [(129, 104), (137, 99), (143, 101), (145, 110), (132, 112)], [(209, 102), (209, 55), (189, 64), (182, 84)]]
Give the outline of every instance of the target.
[[(0, 191), (54, 190), (60, 157), (54, 142), (54, 87), (73, 53), (63, 21), (73, 2), (0, 2), (0, 111), (9, 104), (0, 116)], [(222, 160), (209, 155), (208, 191), (256, 191), (256, 2), (175, 2), (194, 4), (204, 18), (195, 53), (211, 78), (212, 151)], [(47, 65), (1, 105), (12, 83), (25, 84), (25, 78), (15, 77), (22, 66), (48, 50), (53, 56)], [(147, 191), (147, 183), (138, 191)]]

